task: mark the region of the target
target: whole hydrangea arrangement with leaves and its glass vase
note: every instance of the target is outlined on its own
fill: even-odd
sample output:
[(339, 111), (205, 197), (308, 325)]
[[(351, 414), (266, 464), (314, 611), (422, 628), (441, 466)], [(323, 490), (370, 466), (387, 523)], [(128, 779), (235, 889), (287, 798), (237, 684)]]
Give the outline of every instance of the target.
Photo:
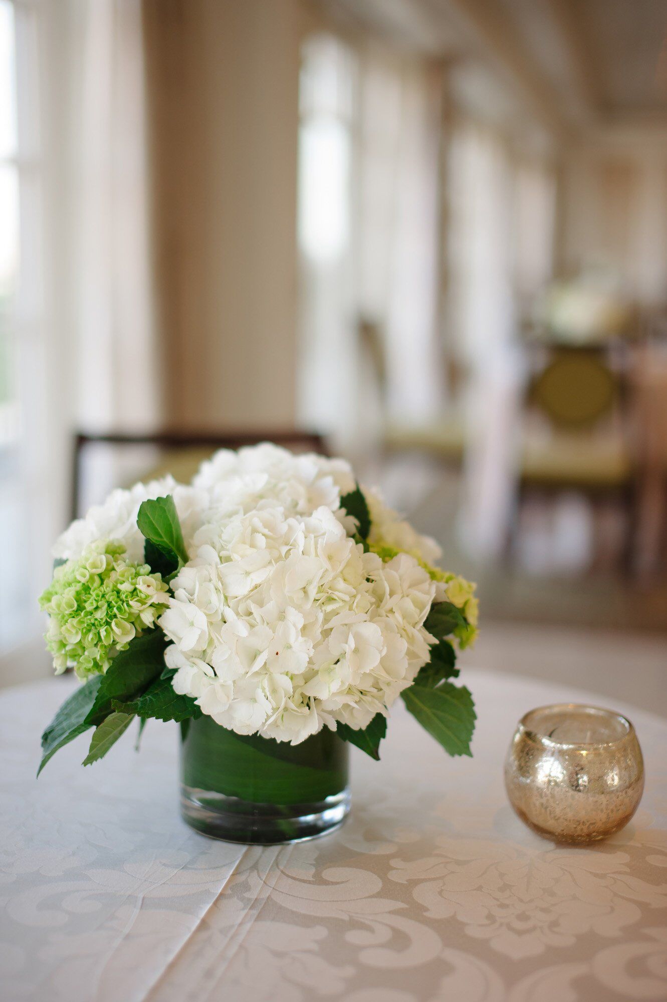
[(475, 586), (344, 460), (222, 450), (190, 485), (113, 491), (54, 554), (46, 641), (82, 684), (39, 772), (84, 731), (87, 766), (133, 719), (175, 720), (185, 820), (266, 843), (343, 821), (349, 744), (379, 759), (399, 696), (446, 752), (471, 754), (473, 700), (452, 679)]

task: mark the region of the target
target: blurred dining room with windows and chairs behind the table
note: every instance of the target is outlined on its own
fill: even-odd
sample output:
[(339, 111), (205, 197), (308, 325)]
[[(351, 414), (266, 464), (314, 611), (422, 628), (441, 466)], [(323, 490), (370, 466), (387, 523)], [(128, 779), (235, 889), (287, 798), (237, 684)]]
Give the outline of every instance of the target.
[(74, 514), (309, 433), (477, 580), (469, 663), (667, 713), (666, 37), (665, 0), (0, 0), (0, 684), (51, 670)]

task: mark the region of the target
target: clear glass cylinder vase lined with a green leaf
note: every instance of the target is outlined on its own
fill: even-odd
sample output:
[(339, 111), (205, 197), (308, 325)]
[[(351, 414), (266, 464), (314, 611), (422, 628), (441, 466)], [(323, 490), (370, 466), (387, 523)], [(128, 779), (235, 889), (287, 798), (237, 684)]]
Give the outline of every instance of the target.
[(291, 745), (210, 716), (181, 726), (181, 814), (212, 839), (274, 845), (324, 835), (350, 810), (348, 745), (323, 727)]

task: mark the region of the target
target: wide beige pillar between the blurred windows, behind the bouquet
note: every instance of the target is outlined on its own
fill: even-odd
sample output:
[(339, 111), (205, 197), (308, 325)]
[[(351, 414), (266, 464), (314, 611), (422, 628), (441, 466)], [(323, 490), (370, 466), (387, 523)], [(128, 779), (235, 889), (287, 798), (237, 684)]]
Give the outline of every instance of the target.
[(291, 425), (301, 4), (145, 7), (166, 420)]

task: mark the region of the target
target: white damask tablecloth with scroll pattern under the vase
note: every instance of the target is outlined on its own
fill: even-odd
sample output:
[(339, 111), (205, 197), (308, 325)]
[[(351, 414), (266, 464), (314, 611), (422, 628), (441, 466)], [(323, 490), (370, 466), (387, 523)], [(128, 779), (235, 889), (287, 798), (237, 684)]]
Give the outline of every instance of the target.
[(182, 824), (173, 724), (150, 721), (139, 755), (126, 735), (86, 769), (79, 739), (36, 783), (38, 735), (71, 683), (0, 694), (0, 997), (667, 998), (667, 722), (617, 707), (644, 748), (643, 803), (611, 841), (556, 848), (513, 815), (502, 762), (524, 711), (590, 695), (466, 675), (473, 760), (399, 710), (382, 763), (355, 749), (344, 828), (271, 849)]

